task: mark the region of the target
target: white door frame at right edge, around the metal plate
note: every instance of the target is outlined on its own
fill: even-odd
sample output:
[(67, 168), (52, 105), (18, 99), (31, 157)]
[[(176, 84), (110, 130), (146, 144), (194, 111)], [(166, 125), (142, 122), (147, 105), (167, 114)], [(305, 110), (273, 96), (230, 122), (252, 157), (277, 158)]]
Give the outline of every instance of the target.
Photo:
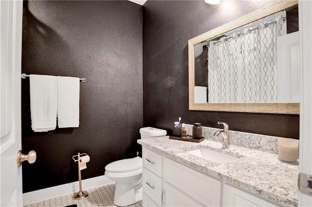
[[(312, 175), (312, 1), (299, 0), (298, 7), (301, 73), (299, 172)], [(311, 207), (312, 196), (299, 192), (299, 206)]]

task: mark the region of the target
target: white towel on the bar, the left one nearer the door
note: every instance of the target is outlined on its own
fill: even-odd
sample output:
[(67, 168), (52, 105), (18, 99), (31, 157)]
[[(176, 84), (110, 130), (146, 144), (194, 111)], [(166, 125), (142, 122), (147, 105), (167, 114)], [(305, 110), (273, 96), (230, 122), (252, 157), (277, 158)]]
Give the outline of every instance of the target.
[(47, 132), (57, 126), (58, 77), (30, 75), (31, 127), (35, 132)]

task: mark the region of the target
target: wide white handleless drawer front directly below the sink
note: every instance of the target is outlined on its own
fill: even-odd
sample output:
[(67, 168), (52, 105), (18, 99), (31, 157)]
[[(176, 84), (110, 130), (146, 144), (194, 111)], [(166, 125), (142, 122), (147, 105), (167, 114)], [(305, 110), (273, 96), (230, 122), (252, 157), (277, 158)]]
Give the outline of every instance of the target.
[(220, 206), (221, 181), (164, 158), (166, 182), (207, 207)]

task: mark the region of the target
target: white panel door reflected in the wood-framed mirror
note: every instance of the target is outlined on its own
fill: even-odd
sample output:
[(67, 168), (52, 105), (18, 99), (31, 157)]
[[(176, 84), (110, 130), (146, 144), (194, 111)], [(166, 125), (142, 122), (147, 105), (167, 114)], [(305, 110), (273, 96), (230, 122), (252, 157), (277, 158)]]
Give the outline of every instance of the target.
[(277, 103), (299, 103), (299, 32), (277, 37), (277, 57)]

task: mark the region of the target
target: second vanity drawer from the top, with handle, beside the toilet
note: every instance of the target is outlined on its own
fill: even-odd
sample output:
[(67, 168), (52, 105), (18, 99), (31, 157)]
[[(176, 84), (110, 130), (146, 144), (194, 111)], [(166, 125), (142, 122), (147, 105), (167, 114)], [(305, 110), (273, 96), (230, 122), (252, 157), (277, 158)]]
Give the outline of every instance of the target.
[(142, 186), (143, 192), (161, 206), (162, 178), (143, 167)]

